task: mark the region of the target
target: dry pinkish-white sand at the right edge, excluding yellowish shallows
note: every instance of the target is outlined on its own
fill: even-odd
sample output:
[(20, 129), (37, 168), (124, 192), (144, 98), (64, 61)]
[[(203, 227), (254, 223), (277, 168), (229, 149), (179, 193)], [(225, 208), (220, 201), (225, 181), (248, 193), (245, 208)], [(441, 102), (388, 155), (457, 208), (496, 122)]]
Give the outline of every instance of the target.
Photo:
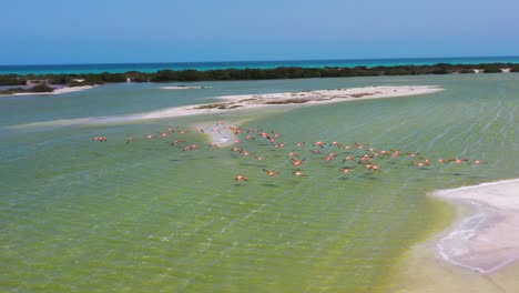
[(491, 274), (519, 260), (519, 179), (440, 190), (466, 212), (436, 247), (447, 261)]

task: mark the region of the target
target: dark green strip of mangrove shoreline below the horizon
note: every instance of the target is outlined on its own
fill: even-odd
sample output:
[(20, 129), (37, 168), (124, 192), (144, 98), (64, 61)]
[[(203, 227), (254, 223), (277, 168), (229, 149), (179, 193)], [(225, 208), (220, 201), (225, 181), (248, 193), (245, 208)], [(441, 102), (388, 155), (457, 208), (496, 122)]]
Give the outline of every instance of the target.
[[(101, 73), (63, 74), (0, 74), (0, 85), (24, 85), (30, 80), (44, 80), (49, 84), (93, 85), (122, 82), (197, 82), (231, 80), (278, 80), (306, 78), (352, 78), (391, 77), (456, 73), (502, 73), (519, 72), (517, 63), (436, 63), (424, 65), (377, 65), (377, 67), (277, 67), (268, 69), (214, 69), (214, 70), (156, 70), (154, 72), (126, 71)], [(82, 82), (75, 82), (81, 80)]]

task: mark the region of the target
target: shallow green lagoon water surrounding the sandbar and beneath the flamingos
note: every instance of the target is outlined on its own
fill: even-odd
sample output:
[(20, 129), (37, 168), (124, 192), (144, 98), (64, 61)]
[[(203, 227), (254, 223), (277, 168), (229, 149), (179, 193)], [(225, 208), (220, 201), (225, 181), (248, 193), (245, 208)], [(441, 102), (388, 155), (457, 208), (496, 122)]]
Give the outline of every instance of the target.
[[(84, 123), (203, 103), (222, 94), (365, 85), (431, 84), (442, 92), (288, 111)], [(436, 189), (517, 178), (519, 74), (468, 74), (105, 85), (81, 93), (0, 100), (0, 290), (3, 292), (390, 292), (407, 249), (442, 229), (449, 206)], [(44, 125), (38, 122), (49, 122)], [(225, 121), (275, 130), (285, 148), (240, 146), (265, 161), (210, 150), (195, 125)], [(169, 127), (185, 129), (145, 140)], [(106, 135), (106, 142), (93, 137)], [(130, 144), (126, 138), (138, 140)], [(199, 151), (170, 146), (175, 139)], [(383, 172), (342, 160), (360, 142), (482, 165), (413, 165), (381, 158)], [(293, 175), (293, 142), (306, 158)], [(328, 162), (323, 156), (338, 152)], [(268, 178), (262, 169), (279, 171)], [(238, 174), (248, 182), (236, 182)]]

